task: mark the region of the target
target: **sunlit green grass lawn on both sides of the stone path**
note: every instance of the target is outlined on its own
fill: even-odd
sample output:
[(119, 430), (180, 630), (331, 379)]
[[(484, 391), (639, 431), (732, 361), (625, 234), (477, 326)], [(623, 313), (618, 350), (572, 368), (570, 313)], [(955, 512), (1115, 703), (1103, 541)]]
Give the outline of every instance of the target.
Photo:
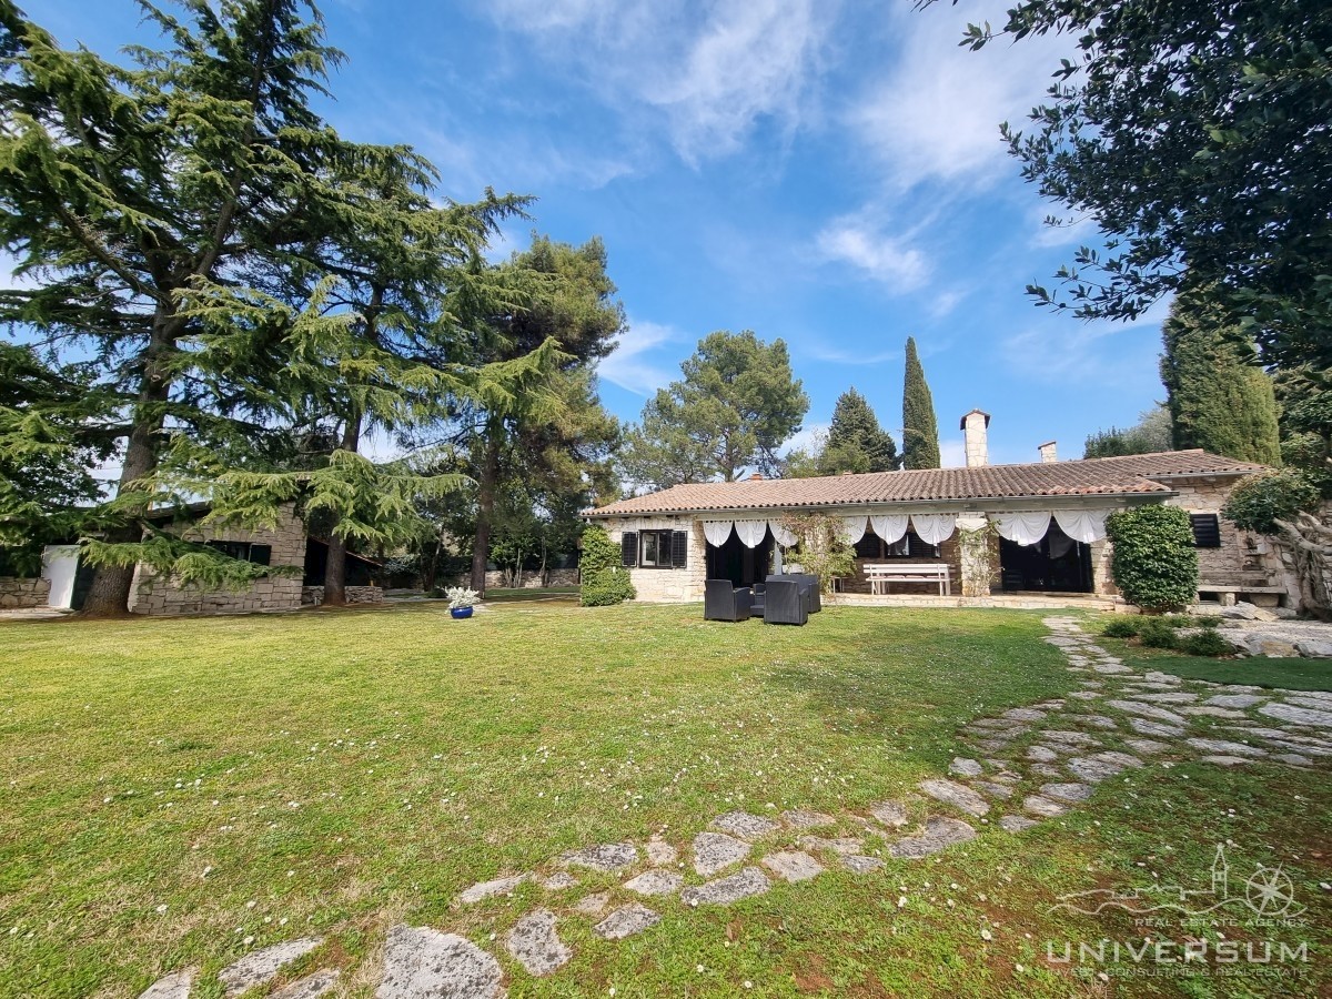
[[(464, 910), (464, 887), (551, 871), (590, 843), (662, 832), (685, 846), (737, 807), (900, 798), (962, 751), (959, 725), (1076, 685), (1034, 613), (832, 607), (803, 629), (699, 618), (518, 602), (466, 622), (418, 605), (0, 625), (0, 995), (135, 996), (161, 972), (201, 964), (208, 979), (252, 947), (317, 932), (328, 943), (306, 964), (341, 966), (342, 994), (369, 996), (384, 932), (404, 919), (496, 952), (511, 996), (1332, 986), (1315, 966), (1276, 991), (1241, 978), (1111, 987), (1046, 960), (1047, 939), (1132, 935), (1124, 920), (1051, 915), (1058, 894), (1135, 883), (1139, 864), (1184, 876), (1223, 839), (1232, 863), (1285, 864), (1327, 946), (1325, 773), (1203, 765), (1116, 779), (1028, 834), (986, 831), (886, 872), (730, 908), (662, 900), (662, 924), (622, 943), (567, 916), (573, 962), (526, 976), (492, 934), (578, 892), (529, 884)], [(601, 883), (614, 884), (583, 890)]]

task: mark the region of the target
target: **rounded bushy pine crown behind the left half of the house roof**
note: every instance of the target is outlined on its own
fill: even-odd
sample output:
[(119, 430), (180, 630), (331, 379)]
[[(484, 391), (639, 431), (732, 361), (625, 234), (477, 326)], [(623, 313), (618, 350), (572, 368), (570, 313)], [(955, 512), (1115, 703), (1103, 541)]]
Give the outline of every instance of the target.
[(681, 372), (629, 432), (626, 478), (669, 489), (715, 478), (734, 482), (749, 468), (779, 474), (778, 450), (810, 408), (786, 344), (765, 344), (751, 330), (719, 330), (698, 341)]

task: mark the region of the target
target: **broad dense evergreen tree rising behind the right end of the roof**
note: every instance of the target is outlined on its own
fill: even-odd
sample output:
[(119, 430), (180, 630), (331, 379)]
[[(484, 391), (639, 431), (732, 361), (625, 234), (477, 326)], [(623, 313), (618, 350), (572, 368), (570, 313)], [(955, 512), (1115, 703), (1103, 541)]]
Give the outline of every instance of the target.
[(1175, 446), (1279, 465), (1272, 378), (1257, 366), (1248, 336), (1225, 325), (1208, 289), (1176, 298), (1162, 333), (1162, 381), (1169, 393)]

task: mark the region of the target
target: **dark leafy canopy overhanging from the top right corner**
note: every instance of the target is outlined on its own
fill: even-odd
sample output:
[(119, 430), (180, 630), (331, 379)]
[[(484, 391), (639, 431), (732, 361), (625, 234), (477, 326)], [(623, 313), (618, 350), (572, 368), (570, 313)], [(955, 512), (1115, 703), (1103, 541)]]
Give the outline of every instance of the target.
[[(926, 0), (928, 1), (928, 0)], [(1086, 318), (1131, 318), (1215, 282), (1267, 362), (1332, 365), (1332, 7), (1307, 0), (1022, 0), (995, 37), (1070, 37), (1030, 129), (1023, 177), (1090, 220), (1059, 288)]]

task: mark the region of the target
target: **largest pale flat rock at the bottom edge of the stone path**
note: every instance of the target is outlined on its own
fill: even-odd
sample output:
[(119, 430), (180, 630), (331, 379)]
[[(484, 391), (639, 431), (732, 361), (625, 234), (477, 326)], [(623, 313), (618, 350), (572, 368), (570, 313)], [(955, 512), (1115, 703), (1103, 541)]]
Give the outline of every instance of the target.
[(398, 924), (384, 944), (376, 999), (500, 999), (500, 962), (457, 934)]

